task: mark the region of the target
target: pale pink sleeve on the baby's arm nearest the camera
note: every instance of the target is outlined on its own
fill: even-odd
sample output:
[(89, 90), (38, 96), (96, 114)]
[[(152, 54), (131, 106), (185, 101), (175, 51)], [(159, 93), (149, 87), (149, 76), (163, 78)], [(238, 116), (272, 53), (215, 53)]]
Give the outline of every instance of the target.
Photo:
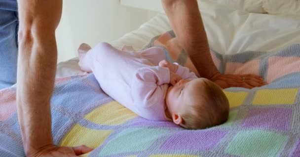
[(165, 67), (140, 68), (131, 83), (131, 95), (138, 115), (149, 119), (163, 121), (164, 98), (167, 88), (163, 84), (170, 83), (170, 71)]

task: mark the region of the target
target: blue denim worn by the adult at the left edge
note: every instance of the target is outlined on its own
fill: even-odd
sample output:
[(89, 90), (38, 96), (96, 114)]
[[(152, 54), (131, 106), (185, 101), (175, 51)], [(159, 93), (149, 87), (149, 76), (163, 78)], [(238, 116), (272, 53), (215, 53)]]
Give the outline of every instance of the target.
[(0, 89), (16, 83), (18, 26), (17, 1), (0, 0)]

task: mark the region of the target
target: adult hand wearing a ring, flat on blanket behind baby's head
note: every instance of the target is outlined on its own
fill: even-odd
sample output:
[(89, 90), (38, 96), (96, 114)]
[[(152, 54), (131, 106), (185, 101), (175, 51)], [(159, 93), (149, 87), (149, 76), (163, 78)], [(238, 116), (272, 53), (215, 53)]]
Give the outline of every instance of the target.
[(244, 88), (254, 88), (266, 85), (266, 82), (263, 82), (263, 78), (247, 74), (247, 75), (222, 75), (216, 74), (214, 77), (210, 79), (211, 81), (218, 84), (221, 88), (229, 88), (229, 87), (244, 87)]

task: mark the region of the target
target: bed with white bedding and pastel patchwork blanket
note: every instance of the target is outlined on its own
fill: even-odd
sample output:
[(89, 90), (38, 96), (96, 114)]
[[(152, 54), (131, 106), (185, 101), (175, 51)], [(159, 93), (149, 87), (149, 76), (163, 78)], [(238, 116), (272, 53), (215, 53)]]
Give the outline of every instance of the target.
[[(121, 0), (162, 11), (159, 0), (134, 1)], [(214, 63), (224, 74), (256, 74), (269, 84), (225, 89), (230, 104), (225, 124), (194, 131), (143, 119), (106, 95), (74, 58), (57, 68), (51, 99), (54, 143), (95, 148), (84, 155), (89, 157), (300, 157), (300, 2), (234, 1), (199, 3)], [(161, 47), (168, 60), (195, 70), (164, 13), (111, 44)], [(15, 90), (0, 91), (1, 157), (24, 156)]]

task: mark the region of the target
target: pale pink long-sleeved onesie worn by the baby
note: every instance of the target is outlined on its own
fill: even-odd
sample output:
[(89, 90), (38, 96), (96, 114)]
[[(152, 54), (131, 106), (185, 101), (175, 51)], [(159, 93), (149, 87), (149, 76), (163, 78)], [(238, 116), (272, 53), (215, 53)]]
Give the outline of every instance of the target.
[[(100, 43), (85, 55), (83, 64), (91, 68), (103, 91), (115, 101), (146, 119), (166, 121), (169, 119), (165, 115), (165, 97), (170, 71), (158, 66), (165, 58), (158, 47), (135, 52), (125, 46), (120, 51), (108, 43)], [(182, 66), (176, 74), (183, 79), (197, 78)]]

